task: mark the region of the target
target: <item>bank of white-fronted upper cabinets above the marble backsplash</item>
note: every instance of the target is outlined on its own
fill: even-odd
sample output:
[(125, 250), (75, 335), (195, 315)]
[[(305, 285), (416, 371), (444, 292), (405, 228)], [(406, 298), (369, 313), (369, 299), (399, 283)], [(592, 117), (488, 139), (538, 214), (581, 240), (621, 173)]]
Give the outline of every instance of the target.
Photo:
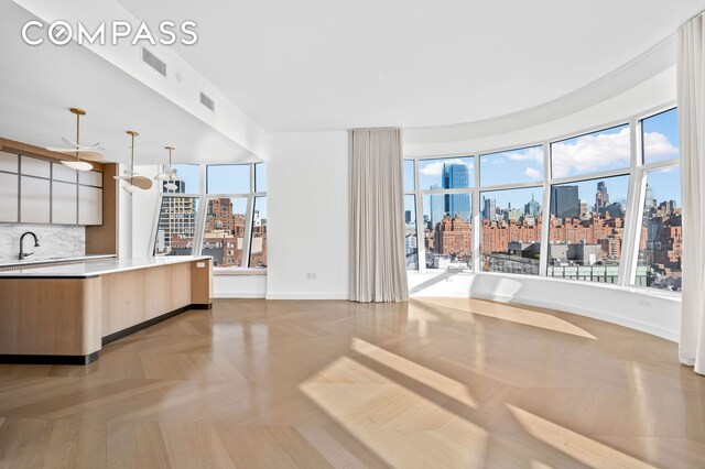
[(0, 222), (102, 225), (102, 173), (0, 152)]

